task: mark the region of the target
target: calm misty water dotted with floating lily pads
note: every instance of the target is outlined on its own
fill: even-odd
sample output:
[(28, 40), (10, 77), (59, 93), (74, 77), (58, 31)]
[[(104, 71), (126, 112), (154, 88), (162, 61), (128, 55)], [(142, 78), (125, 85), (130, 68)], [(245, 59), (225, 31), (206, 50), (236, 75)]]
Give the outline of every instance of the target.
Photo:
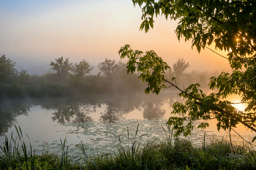
[[(0, 142), (2, 145), (4, 135), (10, 138), (13, 133), (15, 136), (14, 125), (20, 125), (37, 152), (47, 149), (60, 152), (60, 139), (63, 141), (65, 138), (70, 145), (70, 152), (78, 152), (76, 144), (79, 142), (86, 144), (86, 149), (91, 153), (113, 152), (118, 141), (106, 131), (121, 136), (125, 143), (127, 127), (129, 136), (135, 136), (139, 123), (138, 134), (148, 134), (140, 139), (142, 142), (167, 137), (167, 131), (162, 128), (167, 130), (165, 123), (176, 101), (181, 101), (181, 98), (174, 92), (160, 93), (158, 96), (137, 93), (83, 98), (12, 98), (1, 101)], [(227, 138), (227, 132), (218, 132), (216, 124), (216, 120), (211, 120), (206, 130), (195, 128), (187, 139), (201, 146), (205, 131), (207, 142), (221, 139), (223, 135)], [(248, 140), (255, 136), (242, 125), (236, 131)], [(241, 142), (241, 138), (232, 134), (234, 142)], [(29, 139), (24, 140), (29, 142)]]

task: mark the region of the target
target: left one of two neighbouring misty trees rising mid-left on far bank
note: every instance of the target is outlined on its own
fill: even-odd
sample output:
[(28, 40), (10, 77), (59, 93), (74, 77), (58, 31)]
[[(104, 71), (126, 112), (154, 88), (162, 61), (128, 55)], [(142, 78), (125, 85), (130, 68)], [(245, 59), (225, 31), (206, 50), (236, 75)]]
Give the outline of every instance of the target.
[(58, 82), (63, 82), (72, 69), (72, 63), (69, 63), (69, 58), (64, 61), (63, 57), (55, 59), (55, 61), (56, 63), (50, 62), (51, 69), (56, 72)]

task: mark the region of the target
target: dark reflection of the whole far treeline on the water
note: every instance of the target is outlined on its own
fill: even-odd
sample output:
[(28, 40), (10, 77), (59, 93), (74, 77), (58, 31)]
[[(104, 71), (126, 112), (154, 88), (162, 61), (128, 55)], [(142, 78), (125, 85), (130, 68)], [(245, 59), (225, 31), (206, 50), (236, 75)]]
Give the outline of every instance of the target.
[[(101, 123), (115, 123), (124, 115), (135, 109), (143, 109), (143, 117), (148, 120), (165, 115), (162, 109), (165, 101), (175, 102), (176, 93), (160, 93), (146, 96), (144, 93), (127, 93), (115, 95), (94, 95), (85, 98), (26, 98), (0, 101), (0, 135), (16, 122), (18, 115), (27, 115), (31, 106), (41, 106), (42, 109), (54, 110), (53, 121), (58, 123), (83, 123), (93, 121), (90, 113), (96, 112), (97, 107), (106, 106), (105, 112), (99, 118)], [(40, 120), (37, 120), (40, 121)]]

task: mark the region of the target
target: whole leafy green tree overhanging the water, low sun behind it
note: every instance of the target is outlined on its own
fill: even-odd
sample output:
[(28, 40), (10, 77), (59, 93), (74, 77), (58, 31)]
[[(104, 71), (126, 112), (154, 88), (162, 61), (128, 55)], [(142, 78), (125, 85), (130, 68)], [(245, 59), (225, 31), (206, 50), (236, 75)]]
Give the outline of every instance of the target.
[[(181, 91), (179, 96), (186, 98), (185, 104), (173, 104), (173, 114), (181, 113), (184, 117), (170, 117), (167, 123), (173, 125), (175, 136), (191, 134), (195, 120), (204, 120), (197, 128), (206, 128), (207, 120), (216, 118), (217, 128), (231, 131), (238, 123), (256, 132), (256, 1), (208, 1), (208, 0), (132, 0), (142, 7), (143, 22), (140, 30), (154, 26), (154, 15), (165, 15), (165, 18), (179, 20), (176, 35), (180, 40), (192, 39), (192, 47), (197, 51), (209, 48), (215, 43), (215, 48), (225, 50), (230, 62), (232, 74), (222, 72), (218, 77), (211, 77), (209, 88), (217, 88), (218, 93), (206, 95), (200, 90), (199, 84), (189, 85), (181, 90), (172, 81), (167, 80), (165, 72), (169, 66), (162, 61), (154, 51), (143, 52), (132, 50), (129, 45), (121, 47), (121, 58), (127, 57), (128, 72), (140, 71), (140, 79), (148, 82), (146, 93), (159, 93), (165, 88), (164, 82)], [(222, 56), (226, 58), (225, 56)], [(150, 74), (149, 69), (154, 72)], [(241, 95), (241, 102), (247, 103), (245, 112), (238, 111), (227, 96)], [(187, 120), (187, 125), (184, 121)], [(236, 132), (236, 131), (235, 131)], [(252, 140), (254, 142), (256, 136)]]

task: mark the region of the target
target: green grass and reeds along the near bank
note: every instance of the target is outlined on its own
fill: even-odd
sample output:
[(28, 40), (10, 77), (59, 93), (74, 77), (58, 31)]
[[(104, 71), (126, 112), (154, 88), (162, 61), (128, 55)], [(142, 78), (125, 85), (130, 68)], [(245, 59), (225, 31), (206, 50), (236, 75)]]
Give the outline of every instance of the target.
[[(16, 126), (15, 126), (16, 127)], [(89, 158), (83, 143), (80, 142), (81, 156), (69, 156), (67, 139), (61, 141), (61, 155), (48, 151), (37, 155), (31, 143), (26, 146), (23, 133), (16, 127), (17, 137), (5, 138), (0, 146), (0, 169), (255, 169), (256, 152), (246, 145), (233, 145), (225, 140), (215, 140), (210, 144), (203, 142), (202, 147), (195, 147), (186, 139), (173, 138), (170, 127), (163, 130), (169, 134), (160, 142), (147, 142), (141, 145), (140, 138), (146, 134), (135, 136), (129, 134), (127, 140), (107, 132), (118, 139), (118, 150), (105, 155)], [(29, 136), (27, 136), (29, 137)], [(205, 139), (205, 138), (204, 138)], [(234, 153), (233, 153), (234, 151)]]

